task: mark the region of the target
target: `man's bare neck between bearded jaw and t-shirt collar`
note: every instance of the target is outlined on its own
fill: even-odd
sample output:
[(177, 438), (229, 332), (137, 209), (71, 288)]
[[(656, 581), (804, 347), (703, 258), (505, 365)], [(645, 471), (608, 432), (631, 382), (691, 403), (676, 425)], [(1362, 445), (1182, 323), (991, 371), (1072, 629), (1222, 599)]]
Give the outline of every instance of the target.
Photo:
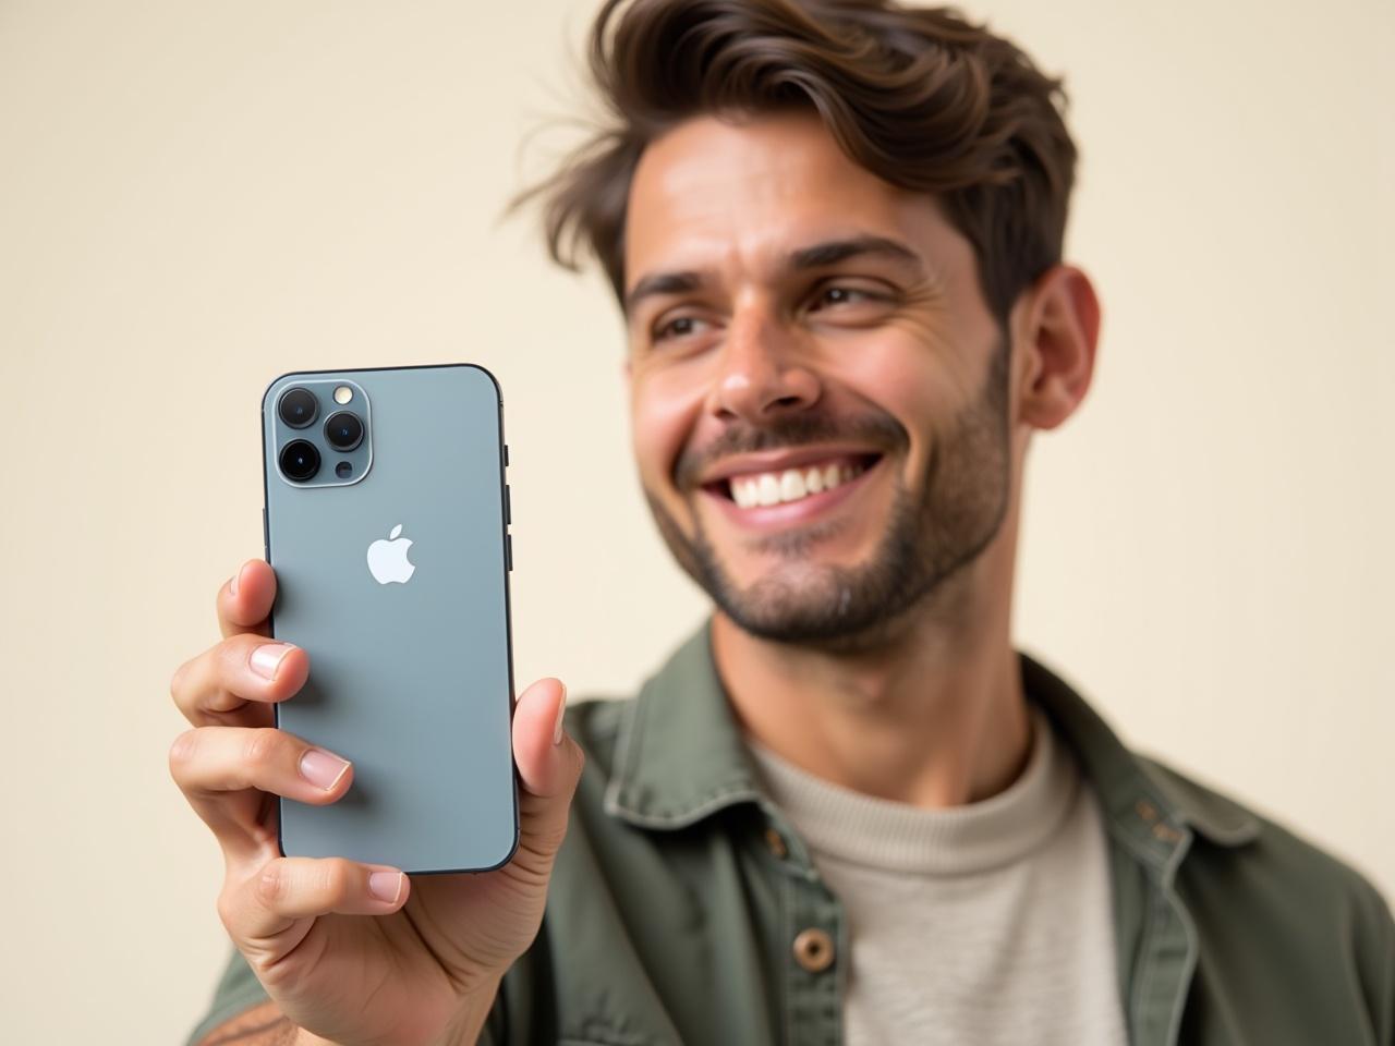
[(713, 619), (713, 655), (746, 732), (866, 795), (960, 806), (1006, 789), (1031, 748), (1010, 642), (1016, 520), (875, 647), (791, 646)]

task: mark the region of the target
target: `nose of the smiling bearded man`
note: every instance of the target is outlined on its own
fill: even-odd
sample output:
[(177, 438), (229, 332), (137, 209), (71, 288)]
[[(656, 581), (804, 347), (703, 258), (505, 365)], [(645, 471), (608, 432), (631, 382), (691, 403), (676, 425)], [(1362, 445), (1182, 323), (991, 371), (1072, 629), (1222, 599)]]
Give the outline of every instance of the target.
[(723, 421), (770, 424), (819, 402), (823, 384), (777, 319), (763, 312), (732, 317), (707, 407)]

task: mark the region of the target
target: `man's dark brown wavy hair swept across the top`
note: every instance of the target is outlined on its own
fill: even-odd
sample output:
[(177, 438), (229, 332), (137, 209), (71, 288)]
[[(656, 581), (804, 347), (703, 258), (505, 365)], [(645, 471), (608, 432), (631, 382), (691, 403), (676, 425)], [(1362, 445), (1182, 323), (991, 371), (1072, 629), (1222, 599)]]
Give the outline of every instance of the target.
[(640, 153), (700, 114), (817, 112), (855, 163), (940, 201), (1000, 322), (1060, 261), (1076, 167), (1060, 81), (951, 8), (607, 0), (589, 53), (608, 121), (513, 206), (541, 198), (552, 259), (578, 271), (594, 254), (622, 307)]

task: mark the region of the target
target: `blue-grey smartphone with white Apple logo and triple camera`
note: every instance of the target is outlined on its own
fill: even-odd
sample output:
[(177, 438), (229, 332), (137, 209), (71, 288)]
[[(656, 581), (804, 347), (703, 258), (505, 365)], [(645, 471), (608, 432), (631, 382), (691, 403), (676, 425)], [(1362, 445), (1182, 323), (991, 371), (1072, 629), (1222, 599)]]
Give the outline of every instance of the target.
[(280, 849), (485, 872), (518, 847), (499, 385), (472, 364), (304, 371), (262, 397), (271, 628), (310, 655), (276, 725), (353, 761)]

